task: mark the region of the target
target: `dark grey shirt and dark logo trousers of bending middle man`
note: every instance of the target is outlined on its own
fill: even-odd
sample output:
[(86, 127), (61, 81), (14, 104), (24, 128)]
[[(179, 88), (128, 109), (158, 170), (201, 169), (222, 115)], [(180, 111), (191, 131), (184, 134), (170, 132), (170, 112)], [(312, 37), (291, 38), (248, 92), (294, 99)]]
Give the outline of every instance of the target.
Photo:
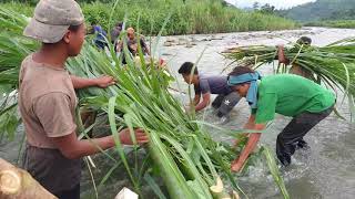
[(239, 94), (232, 92), (227, 85), (226, 76), (205, 76), (200, 74), (199, 81), (200, 84), (194, 86), (195, 95), (219, 94), (212, 103), (212, 107), (217, 109), (219, 117), (227, 115), (241, 100)]

